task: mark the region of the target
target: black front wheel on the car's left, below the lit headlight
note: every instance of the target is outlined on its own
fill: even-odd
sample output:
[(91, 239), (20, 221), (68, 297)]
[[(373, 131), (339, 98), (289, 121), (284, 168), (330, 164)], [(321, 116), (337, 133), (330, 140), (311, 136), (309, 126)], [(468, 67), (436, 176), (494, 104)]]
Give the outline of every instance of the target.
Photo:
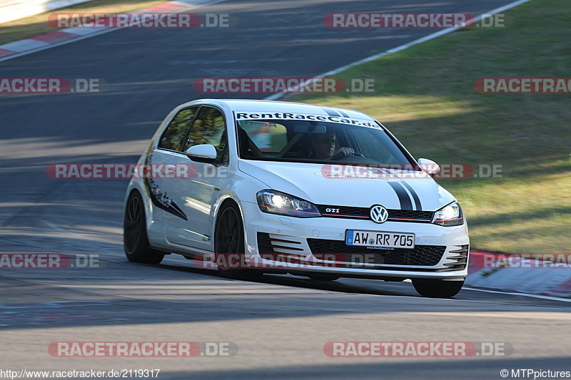
[(225, 278), (256, 281), (263, 272), (245, 268), (244, 224), (238, 205), (228, 202), (218, 215), (214, 230), (214, 252), (218, 272)]

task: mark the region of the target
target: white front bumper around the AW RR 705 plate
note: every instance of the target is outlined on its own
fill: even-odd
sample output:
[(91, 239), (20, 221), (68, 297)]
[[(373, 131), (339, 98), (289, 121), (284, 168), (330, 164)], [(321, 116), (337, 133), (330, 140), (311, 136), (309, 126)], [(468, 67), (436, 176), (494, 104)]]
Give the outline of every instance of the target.
[[(466, 224), (298, 218), (261, 212), (241, 202), (250, 267), (293, 274), (328, 273), (377, 279), (462, 280), (468, 275)], [(346, 230), (412, 232), (415, 250), (373, 250), (345, 245)]]

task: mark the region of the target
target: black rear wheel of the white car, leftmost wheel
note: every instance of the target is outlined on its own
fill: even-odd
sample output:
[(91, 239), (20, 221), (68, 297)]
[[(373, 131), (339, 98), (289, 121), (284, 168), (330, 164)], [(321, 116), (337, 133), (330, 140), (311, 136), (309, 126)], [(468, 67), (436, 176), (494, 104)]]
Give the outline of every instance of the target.
[(148, 244), (145, 207), (138, 192), (128, 197), (123, 219), (123, 247), (130, 262), (158, 264), (164, 254), (153, 250)]

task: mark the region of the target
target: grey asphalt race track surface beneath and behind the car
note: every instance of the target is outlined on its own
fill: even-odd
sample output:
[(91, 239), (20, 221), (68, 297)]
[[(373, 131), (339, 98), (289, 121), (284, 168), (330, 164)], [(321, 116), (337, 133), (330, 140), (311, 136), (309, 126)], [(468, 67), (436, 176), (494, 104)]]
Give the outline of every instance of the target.
[[(0, 269), (0, 369), (161, 369), (159, 379), (501, 379), (570, 371), (568, 303), (410, 282), (223, 279), (126, 261), (126, 180), (53, 180), (52, 163), (134, 163), (195, 78), (310, 77), (434, 30), (333, 30), (332, 12), (467, 12), (509, 1), (226, 1), (232, 29), (121, 30), (0, 63), (0, 77), (103, 78), (96, 94), (0, 96), (0, 252), (98, 255), (101, 268)], [(221, 97), (221, 96), (216, 96)], [(263, 98), (241, 95), (233, 98)], [(234, 356), (66, 358), (51, 342), (233, 342)], [(509, 356), (329, 357), (327, 342), (507, 342)], [(508, 377), (510, 378), (510, 377)]]

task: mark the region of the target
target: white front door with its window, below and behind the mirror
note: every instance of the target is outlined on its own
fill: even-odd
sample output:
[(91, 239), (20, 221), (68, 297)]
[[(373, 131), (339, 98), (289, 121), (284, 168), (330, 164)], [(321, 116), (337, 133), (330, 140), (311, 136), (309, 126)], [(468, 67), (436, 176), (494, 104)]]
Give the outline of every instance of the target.
[(223, 112), (202, 106), (183, 140), (182, 151), (193, 145), (211, 144), (221, 165), (198, 163), (186, 155), (172, 157), (171, 165), (188, 165), (188, 178), (165, 178), (164, 188), (185, 217), (166, 215), (166, 239), (176, 245), (213, 250), (211, 210), (218, 199), (228, 165), (228, 137)]

